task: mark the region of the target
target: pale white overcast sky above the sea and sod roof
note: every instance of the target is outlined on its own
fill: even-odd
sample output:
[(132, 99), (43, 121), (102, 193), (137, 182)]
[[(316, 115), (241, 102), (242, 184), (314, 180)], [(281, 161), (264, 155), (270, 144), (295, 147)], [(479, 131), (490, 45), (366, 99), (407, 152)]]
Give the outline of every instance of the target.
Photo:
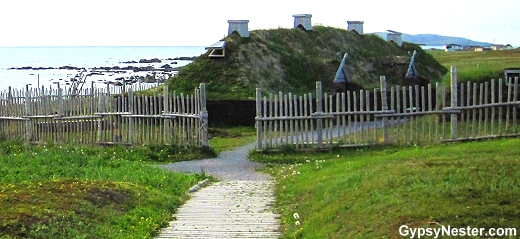
[(519, 9), (519, 0), (9, 0), (0, 3), (0, 46), (207, 46), (227, 34), (227, 20), (249, 20), (250, 30), (291, 28), (293, 14), (340, 28), (364, 21), (365, 33), (520, 46)]

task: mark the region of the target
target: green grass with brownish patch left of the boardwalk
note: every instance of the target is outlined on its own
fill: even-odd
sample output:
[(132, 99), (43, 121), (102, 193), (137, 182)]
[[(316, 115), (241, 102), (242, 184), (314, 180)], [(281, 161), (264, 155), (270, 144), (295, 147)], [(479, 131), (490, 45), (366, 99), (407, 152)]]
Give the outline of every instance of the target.
[(150, 165), (161, 150), (1, 142), (0, 238), (152, 238), (206, 177)]

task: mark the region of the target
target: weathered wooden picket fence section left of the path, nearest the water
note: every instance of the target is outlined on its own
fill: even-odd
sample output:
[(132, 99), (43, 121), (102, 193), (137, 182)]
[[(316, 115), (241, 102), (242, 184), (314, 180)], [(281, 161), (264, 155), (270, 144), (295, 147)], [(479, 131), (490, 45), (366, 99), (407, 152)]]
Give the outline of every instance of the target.
[(64, 92), (0, 92), (0, 137), (33, 143), (208, 145), (204, 84), (192, 95), (170, 94), (167, 85), (154, 96), (135, 95), (132, 88)]

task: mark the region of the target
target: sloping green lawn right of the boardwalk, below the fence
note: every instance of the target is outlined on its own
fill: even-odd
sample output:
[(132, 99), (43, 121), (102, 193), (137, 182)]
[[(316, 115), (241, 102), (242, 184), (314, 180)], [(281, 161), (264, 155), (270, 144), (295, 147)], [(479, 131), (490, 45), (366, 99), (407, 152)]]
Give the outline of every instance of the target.
[(401, 225), (518, 231), (519, 143), (502, 139), (251, 157), (269, 162), (278, 180), (284, 238), (401, 238)]

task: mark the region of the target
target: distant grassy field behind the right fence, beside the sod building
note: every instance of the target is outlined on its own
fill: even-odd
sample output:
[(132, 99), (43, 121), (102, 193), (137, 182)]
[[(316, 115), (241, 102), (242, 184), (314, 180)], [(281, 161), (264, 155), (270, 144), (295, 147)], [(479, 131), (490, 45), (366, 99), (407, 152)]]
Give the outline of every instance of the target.
[[(504, 68), (520, 67), (520, 49), (503, 51), (428, 51), (444, 67), (457, 66), (459, 82), (485, 82), (504, 78)], [(447, 74), (443, 83), (450, 85)]]

